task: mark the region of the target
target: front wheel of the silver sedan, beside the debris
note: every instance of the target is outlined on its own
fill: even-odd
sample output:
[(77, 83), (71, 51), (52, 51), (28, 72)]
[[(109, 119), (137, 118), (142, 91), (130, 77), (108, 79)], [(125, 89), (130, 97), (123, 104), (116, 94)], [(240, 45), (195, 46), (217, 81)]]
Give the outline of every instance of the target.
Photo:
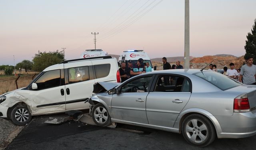
[(92, 108), (92, 119), (98, 126), (109, 126), (111, 124), (108, 110), (101, 103)]

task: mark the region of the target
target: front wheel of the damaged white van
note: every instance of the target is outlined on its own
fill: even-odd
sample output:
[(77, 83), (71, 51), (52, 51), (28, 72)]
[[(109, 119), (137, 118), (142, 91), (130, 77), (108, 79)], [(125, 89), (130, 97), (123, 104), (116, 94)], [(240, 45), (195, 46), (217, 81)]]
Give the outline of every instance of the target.
[(19, 104), (12, 108), (10, 118), (15, 125), (24, 126), (30, 122), (32, 116), (26, 106)]

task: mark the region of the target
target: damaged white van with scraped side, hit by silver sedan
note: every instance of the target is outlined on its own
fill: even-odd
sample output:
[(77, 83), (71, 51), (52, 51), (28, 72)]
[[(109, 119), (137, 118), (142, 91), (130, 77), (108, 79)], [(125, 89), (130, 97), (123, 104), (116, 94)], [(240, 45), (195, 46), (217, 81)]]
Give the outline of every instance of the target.
[(66, 60), (44, 69), (25, 88), (0, 95), (0, 117), (25, 125), (31, 117), (89, 108), (96, 82), (120, 82), (116, 58)]

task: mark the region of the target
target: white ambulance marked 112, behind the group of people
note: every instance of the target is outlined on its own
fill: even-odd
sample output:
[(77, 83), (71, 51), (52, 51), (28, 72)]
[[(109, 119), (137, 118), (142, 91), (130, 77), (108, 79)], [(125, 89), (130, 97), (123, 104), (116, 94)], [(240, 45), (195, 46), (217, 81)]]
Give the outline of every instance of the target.
[(128, 60), (132, 60), (132, 64), (135, 64), (139, 58), (143, 59), (143, 63), (146, 65), (148, 62), (150, 67), (152, 68), (152, 71), (156, 70), (156, 66), (152, 66), (152, 63), (150, 61), (150, 58), (144, 50), (128, 50), (124, 51), (120, 57), (118, 58), (119, 64), (122, 62), (126, 63), (126, 66), (128, 66)]

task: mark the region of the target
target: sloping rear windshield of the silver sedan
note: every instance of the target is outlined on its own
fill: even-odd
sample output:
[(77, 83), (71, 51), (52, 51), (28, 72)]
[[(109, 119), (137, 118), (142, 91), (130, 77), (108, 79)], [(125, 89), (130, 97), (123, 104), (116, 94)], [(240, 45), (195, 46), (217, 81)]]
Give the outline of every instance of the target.
[(210, 82), (211, 84), (217, 86), (221, 90), (228, 90), (230, 88), (242, 85), (240, 82), (214, 71), (197, 72), (194, 73), (194, 75)]

